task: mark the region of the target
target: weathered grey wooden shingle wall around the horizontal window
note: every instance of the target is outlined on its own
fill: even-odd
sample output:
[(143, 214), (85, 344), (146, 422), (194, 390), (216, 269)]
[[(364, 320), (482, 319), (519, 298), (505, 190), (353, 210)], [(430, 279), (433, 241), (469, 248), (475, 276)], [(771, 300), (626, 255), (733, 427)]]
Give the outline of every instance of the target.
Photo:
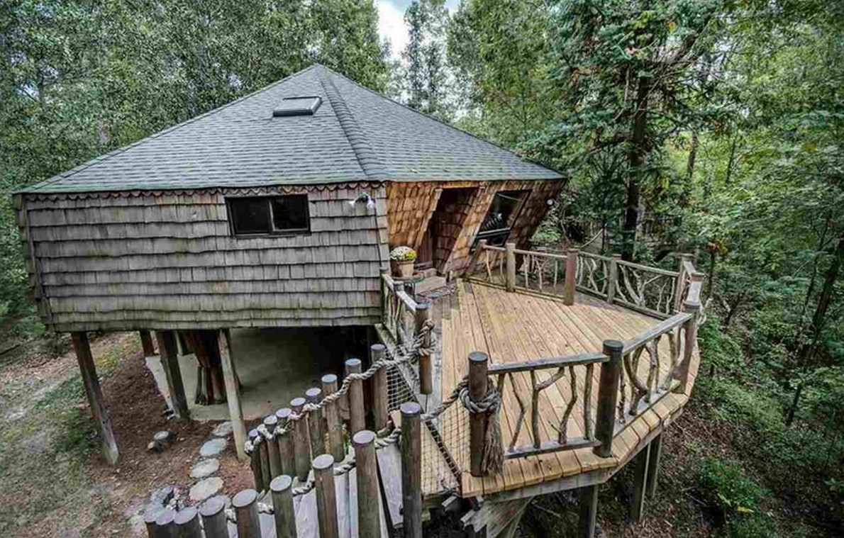
[[(279, 192), (307, 192), (310, 234), (231, 235), (225, 196)], [(349, 203), (360, 192), (374, 209)], [(385, 194), (360, 184), (25, 195), (19, 223), (39, 311), (57, 331), (371, 325)]]

